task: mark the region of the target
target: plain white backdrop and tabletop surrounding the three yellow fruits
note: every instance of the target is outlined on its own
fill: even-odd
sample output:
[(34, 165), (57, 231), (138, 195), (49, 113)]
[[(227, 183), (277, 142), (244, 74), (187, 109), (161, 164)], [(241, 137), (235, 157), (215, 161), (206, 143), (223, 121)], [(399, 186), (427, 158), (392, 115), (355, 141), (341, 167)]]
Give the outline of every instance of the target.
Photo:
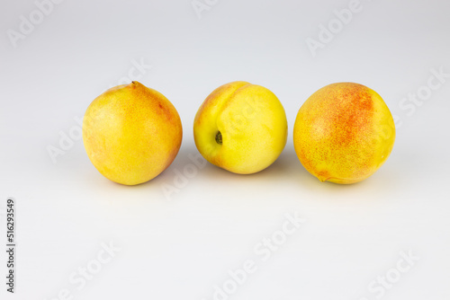
[[(320, 24), (349, 1), (210, 3), (199, 18), (191, 0), (66, 0), (14, 47), (8, 31), (20, 32), (21, 16), (30, 20), (37, 6), (2, 2), (0, 206), (16, 200), (18, 248), (12, 296), (0, 246), (0, 298), (54, 299), (67, 289), (86, 300), (211, 300), (230, 269), (254, 260), (257, 271), (229, 299), (372, 300), (381, 292), (371, 292), (371, 282), (395, 274), (401, 251), (411, 251), (419, 260), (383, 299), (449, 299), (450, 78), (421, 105), (402, 101), (427, 91), (433, 69), (450, 73), (449, 2), (361, 0), (361, 12), (315, 57), (306, 40), (319, 40)], [(59, 148), (61, 134), (76, 137), (75, 119), (140, 61), (152, 67), (124, 80), (174, 103), (184, 126), (175, 162), (135, 187), (103, 178), (81, 139), (52, 162), (48, 147)], [(198, 154), (196, 110), (235, 80), (266, 86), (284, 104), (283, 154), (248, 176), (208, 164), (166, 197), (163, 188), (180, 181), (188, 154)], [(391, 157), (350, 186), (311, 176), (292, 142), (303, 101), (343, 81), (374, 89), (397, 116)], [(295, 212), (305, 223), (262, 261), (254, 248)], [(0, 217), (4, 244), (4, 211)], [(102, 243), (121, 251), (78, 289), (69, 277), (94, 266)]]

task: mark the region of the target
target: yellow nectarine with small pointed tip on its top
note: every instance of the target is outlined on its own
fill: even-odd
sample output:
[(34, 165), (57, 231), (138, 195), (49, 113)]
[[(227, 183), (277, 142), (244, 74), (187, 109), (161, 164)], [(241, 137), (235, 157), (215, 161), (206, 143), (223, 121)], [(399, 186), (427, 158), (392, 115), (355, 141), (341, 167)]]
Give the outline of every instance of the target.
[(182, 137), (181, 119), (172, 103), (138, 82), (98, 96), (83, 119), (89, 159), (104, 177), (125, 185), (163, 172), (174, 161)]

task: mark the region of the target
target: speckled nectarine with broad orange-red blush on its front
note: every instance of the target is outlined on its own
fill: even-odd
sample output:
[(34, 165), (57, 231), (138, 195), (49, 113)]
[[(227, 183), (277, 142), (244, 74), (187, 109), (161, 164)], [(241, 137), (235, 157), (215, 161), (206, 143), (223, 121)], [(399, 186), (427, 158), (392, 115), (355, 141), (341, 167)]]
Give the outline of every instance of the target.
[(395, 125), (382, 97), (353, 83), (329, 84), (305, 101), (293, 128), (303, 166), (320, 181), (363, 181), (391, 154)]

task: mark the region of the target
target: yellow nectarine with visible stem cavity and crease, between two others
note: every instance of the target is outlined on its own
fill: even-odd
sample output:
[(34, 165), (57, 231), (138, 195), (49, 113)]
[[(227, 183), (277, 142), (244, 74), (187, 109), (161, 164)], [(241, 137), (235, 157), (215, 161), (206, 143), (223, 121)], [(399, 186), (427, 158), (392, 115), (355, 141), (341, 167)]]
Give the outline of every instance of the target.
[(197, 111), (193, 137), (208, 162), (229, 172), (255, 173), (282, 153), (286, 114), (275, 94), (263, 86), (242, 81), (224, 84)]

